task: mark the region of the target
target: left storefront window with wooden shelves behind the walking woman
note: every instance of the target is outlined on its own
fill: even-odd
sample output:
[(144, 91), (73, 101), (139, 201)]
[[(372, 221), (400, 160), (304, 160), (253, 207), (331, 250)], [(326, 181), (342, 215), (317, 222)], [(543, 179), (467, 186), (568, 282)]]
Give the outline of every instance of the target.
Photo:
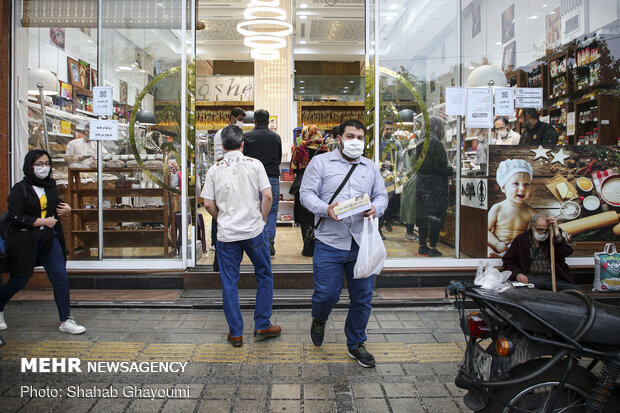
[[(182, 155), (188, 159), (188, 175), (194, 170), (193, 151), (182, 149), (186, 136), (194, 147), (194, 128), (182, 126), (183, 120), (190, 124), (194, 118), (180, 116), (179, 100), (186, 96), (180, 75), (182, 1), (104, 1), (100, 11), (96, 3), (20, 3), (23, 17), (15, 29), (14, 48), (18, 90), (24, 90), (21, 79), (43, 69), (56, 78), (58, 93), (45, 97), (47, 136), (40, 97), (20, 96), (14, 170), (29, 148), (49, 148), (61, 198), (72, 207), (64, 223), (69, 259), (180, 257), (182, 237), (188, 233), (178, 212)], [(190, 27), (189, 10), (187, 16)], [(98, 23), (103, 27), (100, 36)], [(186, 30), (188, 45), (192, 36)], [(188, 47), (188, 83), (193, 81), (192, 60)], [(111, 87), (109, 116), (93, 113), (96, 86)], [(185, 103), (190, 113), (193, 101)], [(90, 127), (97, 119), (118, 122), (118, 133), (102, 141), (99, 159), (98, 134)], [(188, 182), (187, 199), (195, 201), (195, 180)], [(192, 222), (191, 215), (187, 222)]]

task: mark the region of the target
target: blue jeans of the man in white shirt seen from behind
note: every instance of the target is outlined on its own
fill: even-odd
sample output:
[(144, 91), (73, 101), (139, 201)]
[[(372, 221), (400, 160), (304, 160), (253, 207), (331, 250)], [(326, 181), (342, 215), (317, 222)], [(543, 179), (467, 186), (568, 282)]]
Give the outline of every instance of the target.
[(254, 329), (264, 330), (271, 325), (271, 305), (273, 304), (273, 273), (271, 256), (265, 231), (257, 237), (234, 242), (217, 241), (217, 261), (222, 278), (222, 300), (224, 314), (230, 328), (230, 335), (239, 337), (243, 334), (243, 317), (239, 308), (239, 265), (243, 252), (254, 265), (256, 276), (256, 305), (254, 308)]

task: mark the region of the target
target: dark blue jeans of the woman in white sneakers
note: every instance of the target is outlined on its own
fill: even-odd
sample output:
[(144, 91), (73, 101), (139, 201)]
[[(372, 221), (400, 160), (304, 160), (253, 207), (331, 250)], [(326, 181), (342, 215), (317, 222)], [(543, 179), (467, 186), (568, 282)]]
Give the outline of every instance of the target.
[[(54, 237), (52, 246), (46, 254), (41, 253), (41, 244), (39, 244), (37, 261), (45, 268), (47, 277), (54, 287), (54, 300), (58, 308), (58, 316), (61, 322), (65, 322), (71, 314), (69, 304), (69, 278), (67, 277), (65, 257), (60, 242), (58, 242), (58, 238)], [(0, 311), (4, 311), (6, 303), (28, 284), (28, 280), (30, 280), (30, 278), (11, 275), (9, 282), (2, 287), (2, 292), (0, 293)]]

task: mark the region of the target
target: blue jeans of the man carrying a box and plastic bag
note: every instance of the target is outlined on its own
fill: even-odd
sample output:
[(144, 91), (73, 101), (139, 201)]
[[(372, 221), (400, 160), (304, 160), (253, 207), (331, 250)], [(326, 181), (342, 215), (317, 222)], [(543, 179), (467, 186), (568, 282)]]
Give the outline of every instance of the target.
[(344, 325), (347, 347), (354, 349), (358, 343), (366, 341), (366, 326), (370, 317), (370, 302), (375, 284), (375, 276), (353, 279), (353, 268), (357, 260), (358, 245), (351, 242), (349, 251), (339, 250), (322, 243), (314, 242), (314, 294), (312, 294), (312, 318), (327, 321), (332, 308), (340, 300), (340, 292), (347, 279), (349, 289), (349, 313)]

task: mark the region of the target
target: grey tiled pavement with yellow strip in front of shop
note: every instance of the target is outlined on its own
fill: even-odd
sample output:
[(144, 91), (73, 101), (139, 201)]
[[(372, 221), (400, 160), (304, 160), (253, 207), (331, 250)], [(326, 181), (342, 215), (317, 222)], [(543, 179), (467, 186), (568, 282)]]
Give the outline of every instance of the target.
[[(464, 412), (454, 376), (463, 354), (456, 311), (448, 307), (373, 310), (368, 348), (377, 367), (346, 355), (346, 310), (335, 310), (325, 344), (308, 337), (309, 310), (276, 310), (282, 336), (226, 344), (219, 310), (73, 309), (88, 331), (59, 333), (52, 303), (15, 302), (5, 311), (8, 345), (0, 349), (0, 411), (23, 412)], [(181, 361), (182, 373), (20, 373), (20, 357), (109, 361)], [(21, 386), (113, 388), (119, 397), (20, 397)], [(122, 397), (123, 389), (183, 389), (177, 398)], [(189, 389), (189, 390), (188, 390)], [(174, 393), (174, 392), (172, 392)]]

